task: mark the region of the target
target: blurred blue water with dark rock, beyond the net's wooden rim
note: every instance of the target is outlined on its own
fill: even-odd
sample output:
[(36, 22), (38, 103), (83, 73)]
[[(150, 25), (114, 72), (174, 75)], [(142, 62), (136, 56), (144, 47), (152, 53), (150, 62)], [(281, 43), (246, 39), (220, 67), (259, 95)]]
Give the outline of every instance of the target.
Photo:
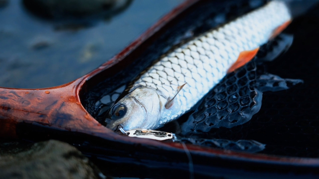
[(184, 0), (0, 0), (0, 86), (44, 88), (94, 70)]

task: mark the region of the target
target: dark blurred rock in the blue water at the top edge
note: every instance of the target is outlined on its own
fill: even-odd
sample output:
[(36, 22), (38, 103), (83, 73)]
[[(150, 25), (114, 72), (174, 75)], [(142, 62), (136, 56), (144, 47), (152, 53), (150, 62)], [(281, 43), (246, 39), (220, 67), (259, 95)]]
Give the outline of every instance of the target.
[(132, 0), (23, 0), (32, 12), (47, 18), (65, 15), (84, 16), (103, 10), (117, 11), (125, 8)]

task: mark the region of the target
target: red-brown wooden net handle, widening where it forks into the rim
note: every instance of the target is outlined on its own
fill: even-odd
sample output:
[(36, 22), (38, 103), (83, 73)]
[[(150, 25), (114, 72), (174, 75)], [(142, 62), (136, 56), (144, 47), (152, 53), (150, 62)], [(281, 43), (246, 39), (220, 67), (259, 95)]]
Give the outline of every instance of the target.
[(81, 105), (81, 79), (44, 89), (0, 88), (0, 137), (17, 137), (15, 126), (19, 122), (60, 130), (107, 132)]

